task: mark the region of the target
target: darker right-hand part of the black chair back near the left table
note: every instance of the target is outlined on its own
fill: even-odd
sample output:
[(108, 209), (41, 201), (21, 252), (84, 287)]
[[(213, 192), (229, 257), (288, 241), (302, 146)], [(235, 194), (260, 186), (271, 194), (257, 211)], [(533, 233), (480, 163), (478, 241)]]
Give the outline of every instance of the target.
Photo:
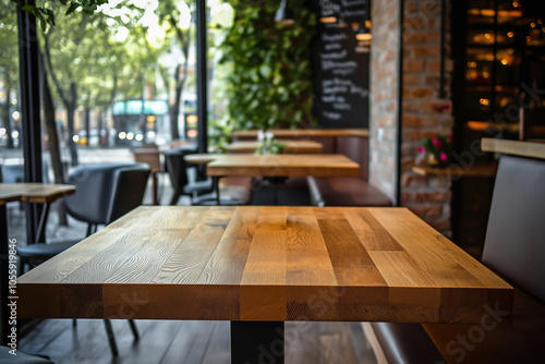
[(116, 185), (111, 196), (112, 201), (110, 203), (107, 223), (112, 222), (142, 204), (149, 172), (149, 166), (146, 163), (136, 163), (116, 171)]

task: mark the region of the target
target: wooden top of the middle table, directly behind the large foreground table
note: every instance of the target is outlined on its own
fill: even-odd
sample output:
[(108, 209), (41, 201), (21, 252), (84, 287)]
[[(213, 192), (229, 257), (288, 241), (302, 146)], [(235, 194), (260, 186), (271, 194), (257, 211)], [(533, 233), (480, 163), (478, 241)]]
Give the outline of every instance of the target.
[(344, 155), (216, 155), (206, 166), (208, 175), (358, 177), (360, 165)]

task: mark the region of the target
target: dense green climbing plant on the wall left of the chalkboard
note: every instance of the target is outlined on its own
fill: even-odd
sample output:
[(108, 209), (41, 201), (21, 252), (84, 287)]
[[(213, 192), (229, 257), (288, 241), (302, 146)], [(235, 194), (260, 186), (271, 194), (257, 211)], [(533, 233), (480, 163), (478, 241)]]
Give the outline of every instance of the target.
[(222, 48), (229, 118), (234, 130), (296, 128), (312, 123), (311, 41), (316, 16), (290, 1), (295, 23), (275, 23), (280, 0), (232, 2), (235, 21)]

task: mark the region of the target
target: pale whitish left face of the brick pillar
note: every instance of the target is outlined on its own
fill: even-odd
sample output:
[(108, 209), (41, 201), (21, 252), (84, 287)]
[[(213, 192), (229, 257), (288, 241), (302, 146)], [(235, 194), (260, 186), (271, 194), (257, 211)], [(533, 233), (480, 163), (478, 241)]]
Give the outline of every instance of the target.
[(396, 196), (399, 0), (372, 2), (370, 182)]

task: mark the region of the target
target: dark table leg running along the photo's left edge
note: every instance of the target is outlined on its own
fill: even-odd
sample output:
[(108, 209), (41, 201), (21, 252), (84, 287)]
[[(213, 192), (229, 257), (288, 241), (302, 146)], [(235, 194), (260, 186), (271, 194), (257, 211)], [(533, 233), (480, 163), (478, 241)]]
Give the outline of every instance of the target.
[(8, 258), (8, 244), (9, 244), (9, 238), (8, 238), (8, 213), (5, 209), (5, 205), (0, 205), (0, 343), (2, 345), (5, 345), (8, 343), (8, 332), (10, 330), (10, 325), (8, 325), (8, 296), (9, 296), (9, 291), (8, 291), (8, 286), (9, 286), (9, 279), (8, 279), (8, 266), (9, 266), (9, 258)]

